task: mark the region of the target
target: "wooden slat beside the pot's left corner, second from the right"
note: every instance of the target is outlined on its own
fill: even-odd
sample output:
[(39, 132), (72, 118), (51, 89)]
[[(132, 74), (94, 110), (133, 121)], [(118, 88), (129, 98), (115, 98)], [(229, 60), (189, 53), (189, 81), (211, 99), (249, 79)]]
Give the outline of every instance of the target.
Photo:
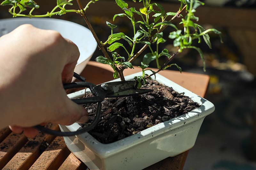
[(58, 169), (69, 153), (63, 137), (56, 137), (30, 169)]

